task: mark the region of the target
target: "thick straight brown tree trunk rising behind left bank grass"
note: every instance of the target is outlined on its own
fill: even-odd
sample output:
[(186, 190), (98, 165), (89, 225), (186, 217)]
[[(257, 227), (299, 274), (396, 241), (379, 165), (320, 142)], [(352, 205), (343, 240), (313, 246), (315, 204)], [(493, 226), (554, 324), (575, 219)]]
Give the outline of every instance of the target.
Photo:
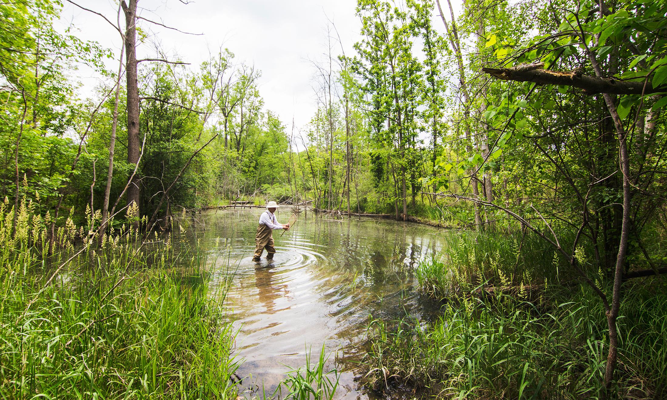
[[(139, 86), (137, 83), (137, 2), (139, 0), (121, 0), (125, 13), (125, 76), (127, 79), (127, 162), (139, 161), (141, 142), (139, 141)], [(141, 216), (139, 177), (135, 174), (127, 188), (127, 204), (135, 203), (137, 217)], [(136, 226), (139, 223), (137, 221)]]

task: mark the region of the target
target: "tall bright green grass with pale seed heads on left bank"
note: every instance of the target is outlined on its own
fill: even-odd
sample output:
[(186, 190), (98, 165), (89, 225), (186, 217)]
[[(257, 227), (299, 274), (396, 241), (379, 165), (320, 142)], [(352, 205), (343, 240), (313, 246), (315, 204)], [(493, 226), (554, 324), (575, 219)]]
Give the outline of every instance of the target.
[[(37, 207), (24, 201), (13, 229), (13, 210), (0, 205), (3, 399), (235, 395), (225, 291), (208, 289), (196, 251), (123, 228), (72, 258), (95, 238), (67, 219), (47, 257), (49, 220)], [(88, 226), (96, 219), (87, 213)]]

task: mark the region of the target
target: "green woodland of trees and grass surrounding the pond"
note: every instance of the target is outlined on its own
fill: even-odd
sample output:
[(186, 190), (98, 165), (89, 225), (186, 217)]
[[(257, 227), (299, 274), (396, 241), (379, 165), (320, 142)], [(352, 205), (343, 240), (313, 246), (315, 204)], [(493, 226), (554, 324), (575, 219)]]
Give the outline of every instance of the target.
[(3, 399), (232, 396), (226, 292), (170, 240), (239, 201), (460, 232), (416, 269), (442, 319), (368, 327), (376, 395), (667, 396), (666, 1), (358, 0), (303, 127), (243, 49), (171, 57), (143, 1), (64, 2), (119, 52), (59, 0), (0, 3)]

